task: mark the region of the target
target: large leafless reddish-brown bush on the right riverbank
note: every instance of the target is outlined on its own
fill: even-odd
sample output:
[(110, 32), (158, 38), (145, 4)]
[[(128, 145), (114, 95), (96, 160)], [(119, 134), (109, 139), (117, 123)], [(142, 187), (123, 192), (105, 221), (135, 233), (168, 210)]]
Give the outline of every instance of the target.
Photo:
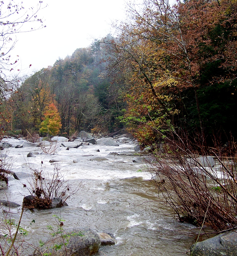
[[(196, 141), (197, 142), (197, 141)], [(181, 222), (201, 226), (209, 224), (216, 232), (237, 227), (237, 158), (236, 148), (230, 142), (226, 157), (223, 147), (203, 149), (185, 136), (176, 133), (166, 138), (166, 154), (158, 154), (150, 164), (154, 182)], [(198, 150), (197, 150), (198, 149)], [(208, 161), (210, 154), (215, 166), (200, 164), (198, 154)]]

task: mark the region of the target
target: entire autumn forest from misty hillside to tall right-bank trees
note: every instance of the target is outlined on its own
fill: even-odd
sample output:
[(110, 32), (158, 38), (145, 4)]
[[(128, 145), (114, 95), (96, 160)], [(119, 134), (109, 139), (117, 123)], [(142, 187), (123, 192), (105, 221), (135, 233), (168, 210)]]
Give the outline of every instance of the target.
[(145, 0), (116, 36), (1, 82), (1, 127), (43, 136), (127, 128), (142, 146), (167, 130), (236, 138), (237, 2)]

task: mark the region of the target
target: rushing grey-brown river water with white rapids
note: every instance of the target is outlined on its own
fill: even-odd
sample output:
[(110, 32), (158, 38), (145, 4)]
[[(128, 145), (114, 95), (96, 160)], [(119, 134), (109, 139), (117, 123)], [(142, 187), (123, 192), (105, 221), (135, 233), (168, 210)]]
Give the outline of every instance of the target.
[[(95, 151), (99, 149), (100, 152)], [(54, 156), (49, 154), (27, 158), (27, 153), (40, 148), (10, 148), (7, 160), (20, 180), (10, 177), (8, 190), (0, 192), (0, 199), (21, 204), (29, 192), (31, 168), (42, 168), (52, 175)], [(49, 210), (24, 211), (21, 226), (27, 226), (26, 240), (39, 245), (39, 240), (50, 238), (48, 225), (56, 226), (55, 217), (64, 220), (64, 227), (88, 226), (98, 232), (114, 234), (115, 246), (101, 247), (96, 255), (186, 255), (186, 251), (198, 233), (198, 228), (181, 224), (173, 217), (172, 210), (164, 206), (156, 187), (150, 181), (151, 174), (145, 163), (133, 163), (134, 156), (108, 155), (109, 152), (133, 151), (134, 144), (119, 147), (90, 145), (70, 150), (56, 150), (61, 156), (60, 170), (71, 187), (80, 184), (79, 190), (67, 203), (69, 206)], [(89, 161), (89, 154), (106, 157), (105, 161)], [(85, 156), (86, 155), (86, 156)], [(78, 158), (78, 163), (73, 159)], [(12, 216), (17, 220), (20, 212), (15, 209)], [(35, 223), (31, 223), (35, 220)], [(191, 235), (190, 235), (191, 234)]]

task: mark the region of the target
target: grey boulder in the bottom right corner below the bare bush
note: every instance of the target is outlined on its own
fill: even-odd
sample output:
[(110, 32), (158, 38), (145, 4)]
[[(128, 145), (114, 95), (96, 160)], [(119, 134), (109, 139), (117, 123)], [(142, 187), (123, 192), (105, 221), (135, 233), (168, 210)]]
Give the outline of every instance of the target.
[(237, 256), (237, 232), (231, 231), (198, 242), (190, 250), (192, 256)]

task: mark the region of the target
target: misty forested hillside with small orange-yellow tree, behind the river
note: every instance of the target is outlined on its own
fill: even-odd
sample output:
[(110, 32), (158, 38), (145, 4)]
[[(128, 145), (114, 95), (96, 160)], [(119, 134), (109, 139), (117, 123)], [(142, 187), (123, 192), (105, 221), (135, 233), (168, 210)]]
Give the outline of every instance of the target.
[(3, 95), (1, 106), (4, 128), (44, 136), (113, 129), (123, 103), (111, 95), (102, 54), (95, 41), (36, 72), (21, 86), (6, 84), (8, 95)]

